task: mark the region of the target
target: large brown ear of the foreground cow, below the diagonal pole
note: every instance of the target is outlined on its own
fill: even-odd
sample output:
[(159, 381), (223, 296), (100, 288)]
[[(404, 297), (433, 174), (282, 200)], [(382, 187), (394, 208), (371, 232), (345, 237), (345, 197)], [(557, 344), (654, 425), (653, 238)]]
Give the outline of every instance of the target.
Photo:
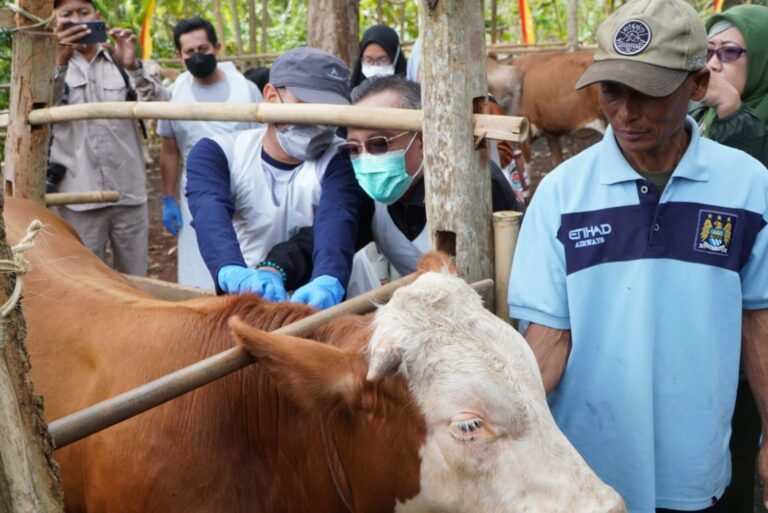
[(365, 366), (356, 352), (262, 331), (229, 319), (237, 343), (265, 368), (280, 389), (305, 409), (359, 405)]

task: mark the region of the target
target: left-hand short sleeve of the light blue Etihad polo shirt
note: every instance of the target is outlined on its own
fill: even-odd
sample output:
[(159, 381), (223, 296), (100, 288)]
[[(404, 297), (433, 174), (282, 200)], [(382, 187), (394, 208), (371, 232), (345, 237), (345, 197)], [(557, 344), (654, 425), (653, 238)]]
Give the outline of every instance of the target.
[(560, 212), (554, 183), (545, 179), (525, 213), (509, 278), (509, 315), (555, 329), (570, 329), (565, 248), (558, 240)]

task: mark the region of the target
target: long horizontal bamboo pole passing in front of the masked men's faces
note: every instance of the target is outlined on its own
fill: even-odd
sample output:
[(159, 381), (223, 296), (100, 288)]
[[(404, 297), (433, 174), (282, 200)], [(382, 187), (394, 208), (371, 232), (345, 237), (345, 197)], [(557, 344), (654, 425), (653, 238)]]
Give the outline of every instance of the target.
[[(387, 128), (419, 132), (422, 111), (290, 103), (170, 103), (98, 102), (51, 107), (30, 112), (31, 125), (82, 119), (181, 119), (198, 121), (258, 121), (260, 123), (329, 124), (359, 128)], [(450, 124), (450, 120), (446, 120)], [(444, 128), (445, 125), (443, 125)], [(472, 132), (472, 127), (469, 127)], [(528, 121), (514, 116), (474, 115), (474, 135), (489, 139), (521, 141)], [(470, 140), (471, 144), (472, 141)]]

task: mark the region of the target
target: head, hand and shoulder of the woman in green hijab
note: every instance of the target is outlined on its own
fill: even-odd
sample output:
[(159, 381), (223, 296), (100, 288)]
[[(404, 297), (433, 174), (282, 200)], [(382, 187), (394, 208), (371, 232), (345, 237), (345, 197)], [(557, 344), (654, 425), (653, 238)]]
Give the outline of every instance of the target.
[(768, 7), (737, 5), (706, 26), (710, 86), (691, 114), (705, 137), (768, 167)]

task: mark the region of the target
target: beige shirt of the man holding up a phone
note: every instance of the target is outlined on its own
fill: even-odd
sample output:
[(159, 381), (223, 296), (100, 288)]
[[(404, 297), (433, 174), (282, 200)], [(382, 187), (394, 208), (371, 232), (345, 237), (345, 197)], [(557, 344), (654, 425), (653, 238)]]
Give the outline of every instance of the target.
[[(170, 99), (165, 87), (149, 76), (143, 66), (126, 73), (139, 100)], [(62, 100), (65, 82), (69, 86), (69, 105), (121, 102), (128, 92), (112, 56), (103, 48), (91, 62), (75, 52), (68, 66), (56, 68), (56, 104)], [(118, 205), (146, 202), (146, 171), (140, 137), (137, 122), (130, 119), (89, 119), (53, 125), (51, 162), (67, 168), (59, 191), (117, 190), (120, 192)], [(81, 211), (101, 207), (104, 204), (68, 206)]]

